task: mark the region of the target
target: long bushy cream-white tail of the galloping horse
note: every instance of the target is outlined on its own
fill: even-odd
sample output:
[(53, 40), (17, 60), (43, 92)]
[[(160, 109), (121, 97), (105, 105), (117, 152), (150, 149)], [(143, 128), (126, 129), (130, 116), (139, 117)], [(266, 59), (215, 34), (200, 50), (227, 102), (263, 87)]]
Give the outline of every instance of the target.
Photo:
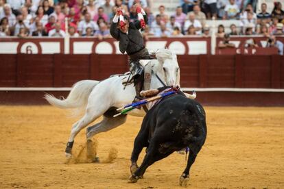
[(95, 80), (82, 80), (78, 81), (72, 86), (71, 92), (69, 93), (67, 99), (57, 99), (54, 95), (45, 95), (45, 99), (51, 104), (58, 108), (74, 109), (74, 113), (78, 114), (86, 108), (88, 103), (88, 96), (91, 94), (93, 88), (99, 84), (99, 81)]

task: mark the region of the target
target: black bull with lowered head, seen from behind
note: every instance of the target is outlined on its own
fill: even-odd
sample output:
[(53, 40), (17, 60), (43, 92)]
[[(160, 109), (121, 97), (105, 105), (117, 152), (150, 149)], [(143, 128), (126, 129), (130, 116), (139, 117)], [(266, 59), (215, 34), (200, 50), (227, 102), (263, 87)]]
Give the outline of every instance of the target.
[[(131, 155), (130, 182), (143, 177), (148, 166), (174, 151), (189, 147), (187, 167), (180, 177), (180, 185), (187, 186), (189, 169), (206, 139), (205, 112), (200, 103), (183, 95), (173, 95), (154, 106), (143, 119), (134, 140)], [(140, 167), (137, 160), (143, 147), (146, 155)]]

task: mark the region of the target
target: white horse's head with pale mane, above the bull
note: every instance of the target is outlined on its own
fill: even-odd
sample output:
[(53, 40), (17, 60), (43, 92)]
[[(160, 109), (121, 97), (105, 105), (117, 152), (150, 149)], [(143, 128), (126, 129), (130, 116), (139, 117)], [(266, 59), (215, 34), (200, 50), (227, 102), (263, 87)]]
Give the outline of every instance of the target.
[(169, 49), (159, 49), (156, 58), (163, 68), (163, 75), (167, 86), (180, 86), (180, 67), (176, 54)]

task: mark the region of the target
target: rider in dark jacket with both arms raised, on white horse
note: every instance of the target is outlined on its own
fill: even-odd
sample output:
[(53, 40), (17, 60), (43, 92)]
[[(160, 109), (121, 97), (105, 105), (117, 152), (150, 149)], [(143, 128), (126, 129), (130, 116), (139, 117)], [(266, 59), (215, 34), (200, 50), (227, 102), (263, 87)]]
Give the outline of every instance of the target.
[[(139, 29), (144, 28), (147, 23), (147, 14), (140, 7), (136, 5), (137, 15), (139, 20), (130, 22), (128, 16), (123, 15), (121, 9), (117, 8), (117, 13), (113, 18), (113, 23), (110, 26), (110, 34), (119, 41), (119, 50), (121, 53), (129, 55), (129, 67), (134, 81), (137, 96), (143, 86), (143, 66), (139, 60), (151, 59), (149, 52), (145, 48), (144, 40), (139, 32)], [(131, 80), (132, 80), (131, 79)]]

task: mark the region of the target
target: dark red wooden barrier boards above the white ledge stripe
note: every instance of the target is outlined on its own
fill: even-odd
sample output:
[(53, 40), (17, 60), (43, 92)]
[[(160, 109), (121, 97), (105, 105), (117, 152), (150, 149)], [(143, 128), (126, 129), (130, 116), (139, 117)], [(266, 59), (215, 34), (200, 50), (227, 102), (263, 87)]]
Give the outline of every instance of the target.
[[(0, 87), (69, 87), (128, 71), (126, 55), (0, 55)], [(178, 55), (182, 87), (284, 88), (280, 55)]]

